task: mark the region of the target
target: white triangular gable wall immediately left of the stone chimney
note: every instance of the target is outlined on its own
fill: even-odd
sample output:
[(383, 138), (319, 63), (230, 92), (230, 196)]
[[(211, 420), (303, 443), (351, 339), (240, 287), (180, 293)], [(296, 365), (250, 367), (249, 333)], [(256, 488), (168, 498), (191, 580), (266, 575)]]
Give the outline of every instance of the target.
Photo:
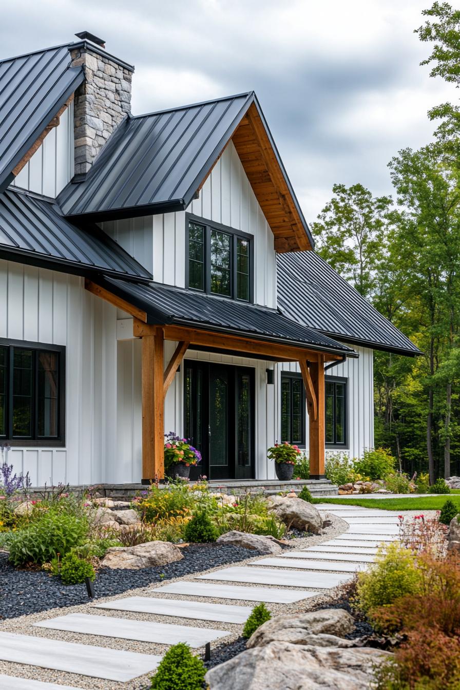
[(74, 175), (74, 104), (70, 103), (12, 186), (57, 197)]

